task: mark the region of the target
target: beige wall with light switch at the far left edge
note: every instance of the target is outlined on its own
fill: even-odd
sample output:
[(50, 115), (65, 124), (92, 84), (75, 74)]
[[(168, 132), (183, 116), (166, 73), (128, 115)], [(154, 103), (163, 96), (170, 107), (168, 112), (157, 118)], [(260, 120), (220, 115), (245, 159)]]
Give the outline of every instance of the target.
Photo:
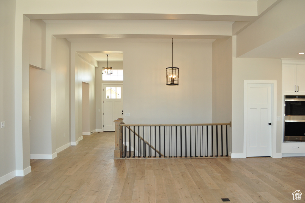
[[(0, 1), (0, 184), (16, 175), (14, 116), (15, 1)], [(3, 40), (5, 39), (5, 40)]]

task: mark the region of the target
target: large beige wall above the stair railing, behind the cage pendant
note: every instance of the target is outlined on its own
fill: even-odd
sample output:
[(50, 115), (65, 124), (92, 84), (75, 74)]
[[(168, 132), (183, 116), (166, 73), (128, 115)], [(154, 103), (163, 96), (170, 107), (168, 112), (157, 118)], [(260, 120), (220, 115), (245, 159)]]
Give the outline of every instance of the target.
[(178, 86), (166, 86), (166, 68), (172, 66), (171, 40), (72, 45), (76, 51), (123, 51), (123, 110), (130, 113), (123, 116), (125, 123), (211, 122), (211, 43), (174, 43)]

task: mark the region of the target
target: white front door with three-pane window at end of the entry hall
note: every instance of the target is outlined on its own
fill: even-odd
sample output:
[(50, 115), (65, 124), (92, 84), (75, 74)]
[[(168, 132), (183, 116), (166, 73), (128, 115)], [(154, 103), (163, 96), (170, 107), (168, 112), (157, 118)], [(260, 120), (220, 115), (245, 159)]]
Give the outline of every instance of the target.
[(123, 115), (123, 85), (103, 85), (103, 127), (104, 131), (114, 131), (114, 120)]

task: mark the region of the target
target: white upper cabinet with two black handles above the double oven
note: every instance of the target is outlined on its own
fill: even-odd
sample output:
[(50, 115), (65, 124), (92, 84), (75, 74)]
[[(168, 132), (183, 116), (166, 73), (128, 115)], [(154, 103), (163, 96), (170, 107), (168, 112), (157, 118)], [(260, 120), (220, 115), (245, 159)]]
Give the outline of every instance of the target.
[(305, 64), (283, 64), (283, 94), (305, 94)]

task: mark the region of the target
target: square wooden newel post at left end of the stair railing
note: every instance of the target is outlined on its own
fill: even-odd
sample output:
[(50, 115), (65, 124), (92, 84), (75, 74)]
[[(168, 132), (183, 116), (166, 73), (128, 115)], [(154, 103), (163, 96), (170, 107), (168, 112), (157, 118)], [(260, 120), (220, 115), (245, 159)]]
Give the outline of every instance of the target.
[(120, 124), (123, 123), (123, 118), (114, 120), (114, 158), (121, 158), (123, 154), (123, 132), (121, 132)]

